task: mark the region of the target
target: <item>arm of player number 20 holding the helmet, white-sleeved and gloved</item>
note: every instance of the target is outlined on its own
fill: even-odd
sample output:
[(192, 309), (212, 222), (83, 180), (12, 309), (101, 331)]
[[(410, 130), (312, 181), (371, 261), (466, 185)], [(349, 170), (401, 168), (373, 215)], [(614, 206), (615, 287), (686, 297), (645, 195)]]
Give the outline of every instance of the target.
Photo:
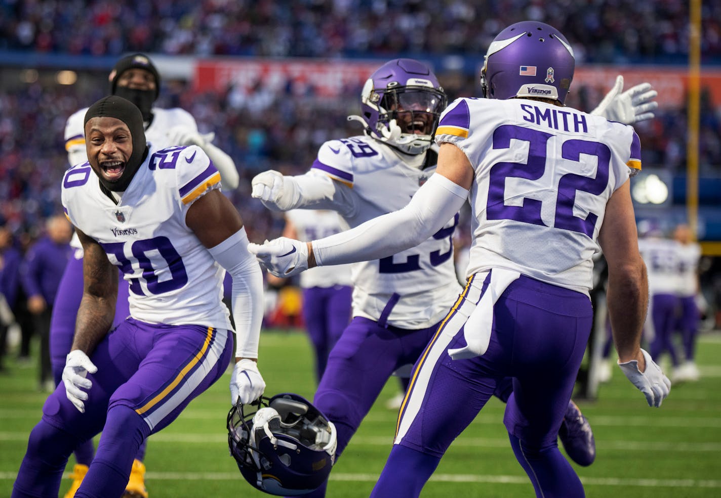
[(236, 367), (231, 397), (248, 403), (265, 389), (256, 363), (263, 317), (263, 282), (260, 266), (248, 253), (243, 220), (218, 190), (200, 196), (187, 211), (185, 223), (213, 258), (233, 278), (232, 312), (236, 328)]

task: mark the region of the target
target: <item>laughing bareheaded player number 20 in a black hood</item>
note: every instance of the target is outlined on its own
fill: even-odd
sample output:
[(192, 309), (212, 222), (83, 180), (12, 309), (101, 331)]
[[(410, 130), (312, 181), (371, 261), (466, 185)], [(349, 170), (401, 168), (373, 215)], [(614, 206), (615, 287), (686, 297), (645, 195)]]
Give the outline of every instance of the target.
[[(224, 269), (232, 278), (236, 366), (231, 399), (249, 403), (257, 368), (262, 273), (242, 219), (198, 145), (146, 144), (143, 116), (108, 96), (84, 118), (88, 161), (62, 184), (84, 250), (84, 288), (63, 384), (30, 433), (13, 497), (57, 496), (79, 443), (102, 438), (76, 497), (123, 494), (138, 448), (226, 371), (232, 351)], [(118, 266), (130, 317), (111, 330)]]

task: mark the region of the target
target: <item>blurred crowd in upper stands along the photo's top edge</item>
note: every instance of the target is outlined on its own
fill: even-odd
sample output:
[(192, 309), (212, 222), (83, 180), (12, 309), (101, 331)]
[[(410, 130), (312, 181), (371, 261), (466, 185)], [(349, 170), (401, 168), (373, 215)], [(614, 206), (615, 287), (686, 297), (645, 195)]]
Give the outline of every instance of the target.
[[(0, 0), (0, 50), (120, 55), (475, 55), (526, 19), (565, 33), (577, 60), (684, 63), (683, 0)], [(721, 1), (706, 0), (702, 55), (721, 53)], [(74, 27), (71, 30), (66, 27)]]

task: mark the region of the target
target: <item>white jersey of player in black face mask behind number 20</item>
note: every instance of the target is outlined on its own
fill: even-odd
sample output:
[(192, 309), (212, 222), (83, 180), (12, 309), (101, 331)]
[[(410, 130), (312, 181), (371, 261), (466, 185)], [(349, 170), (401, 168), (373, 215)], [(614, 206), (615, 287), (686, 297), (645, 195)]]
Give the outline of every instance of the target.
[[(79, 156), (82, 157), (79, 162), (84, 163), (87, 160), (87, 153), (85, 152), (85, 129), (83, 127), (87, 110), (88, 108), (86, 107), (74, 112), (74, 114), (68, 117), (65, 123), (65, 150), (68, 152), (68, 162), (73, 162), (71, 157)], [(195, 123), (195, 118), (190, 112), (185, 111), (185, 109), (161, 109), (154, 107), (153, 121), (148, 129), (145, 130), (145, 140), (148, 146), (162, 149), (177, 145), (177, 143), (169, 143), (168, 130), (178, 125), (187, 128), (187, 130), (198, 132), (198, 124)], [(71, 164), (70, 166), (75, 165)], [(82, 246), (77, 235), (73, 234), (70, 245), (76, 249), (74, 254), (75, 258), (82, 258)]]

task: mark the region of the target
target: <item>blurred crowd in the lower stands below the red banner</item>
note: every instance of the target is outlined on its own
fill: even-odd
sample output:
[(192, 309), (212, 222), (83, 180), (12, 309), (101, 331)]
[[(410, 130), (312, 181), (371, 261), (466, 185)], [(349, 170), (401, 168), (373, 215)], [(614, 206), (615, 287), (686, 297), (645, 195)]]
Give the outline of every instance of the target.
[[(59, 182), (68, 166), (63, 148), (65, 121), (105, 95), (105, 78), (105, 73), (84, 75), (82, 86), (45, 83), (40, 78), (0, 90), (0, 221), (14, 232), (30, 232), (32, 237), (43, 219), (60, 209)], [(455, 73), (441, 73), (439, 78), (451, 101), (479, 94), (475, 78)], [(360, 88), (350, 88), (348, 94), (327, 99), (291, 94), (283, 87), (270, 91), (259, 84), (250, 91), (231, 87), (224, 94), (198, 94), (183, 81), (166, 81), (156, 104), (182, 107), (193, 114), (200, 132), (215, 132), (213, 143), (231, 155), (241, 176), (239, 189), (226, 194), (249, 220), (251, 235), (256, 236), (253, 240), (263, 240), (278, 235), (282, 220), (249, 199), (250, 179), (270, 168), (286, 174), (307, 171), (322, 142), (361, 134), (361, 127), (346, 119), (358, 113), (360, 92)], [(570, 94), (569, 104), (590, 110), (598, 99), (596, 89), (581, 87)], [(703, 174), (721, 173), (720, 111), (702, 104)], [(644, 166), (683, 172), (685, 130), (685, 109), (665, 109), (656, 119), (637, 124)]]

